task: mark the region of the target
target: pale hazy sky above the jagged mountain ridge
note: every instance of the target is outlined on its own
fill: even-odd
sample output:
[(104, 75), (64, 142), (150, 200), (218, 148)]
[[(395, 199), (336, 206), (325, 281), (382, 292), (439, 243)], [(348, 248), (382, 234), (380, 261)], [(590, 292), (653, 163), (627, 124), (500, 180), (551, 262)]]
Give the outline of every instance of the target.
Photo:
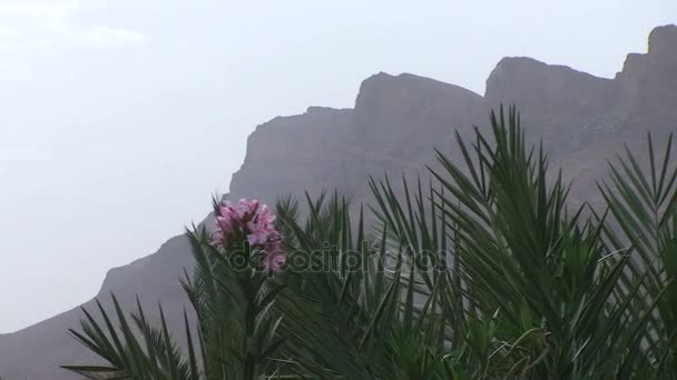
[(0, 0), (0, 332), (209, 210), (247, 134), (372, 73), (482, 93), (504, 56), (612, 77), (675, 0)]

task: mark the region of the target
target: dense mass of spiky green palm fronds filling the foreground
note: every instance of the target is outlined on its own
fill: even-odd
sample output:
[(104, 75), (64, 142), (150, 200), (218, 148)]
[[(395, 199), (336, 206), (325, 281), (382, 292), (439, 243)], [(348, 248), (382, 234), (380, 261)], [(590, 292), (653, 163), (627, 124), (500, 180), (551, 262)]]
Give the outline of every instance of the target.
[(282, 273), (235, 268), (255, 253), (245, 238), (219, 250), (194, 228), (187, 347), (161, 308), (154, 328), (114, 297), (117, 323), (99, 304), (71, 331), (106, 364), (66, 368), (144, 380), (677, 379), (671, 139), (656, 162), (649, 136), (648, 174), (629, 150), (610, 167), (608, 210), (569, 210), (569, 186), (549, 181), (514, 109), (490, 120), (491, 140), (457, 134), (462, 162), (438, 152), (426, 186), (372, 179), (375, 201), (359, 211), (306, 194), (304, 218), (301, 201), (279, 201)]

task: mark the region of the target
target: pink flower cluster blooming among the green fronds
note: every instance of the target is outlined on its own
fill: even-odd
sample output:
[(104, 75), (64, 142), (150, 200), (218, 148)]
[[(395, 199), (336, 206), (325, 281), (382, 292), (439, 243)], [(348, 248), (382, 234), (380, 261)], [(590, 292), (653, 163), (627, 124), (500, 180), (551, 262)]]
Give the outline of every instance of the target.
[(275, 229), (275, 214), (257, 200), (241, 199), (238, 204), (225, 201), (216, 216), (214, 244), (228, 248), (232, 239), (246, 236), (249, 247), (266, 253), (264, 267), (268, 271), (283, 269), (286, 256), (282, 250), (282, 234)]

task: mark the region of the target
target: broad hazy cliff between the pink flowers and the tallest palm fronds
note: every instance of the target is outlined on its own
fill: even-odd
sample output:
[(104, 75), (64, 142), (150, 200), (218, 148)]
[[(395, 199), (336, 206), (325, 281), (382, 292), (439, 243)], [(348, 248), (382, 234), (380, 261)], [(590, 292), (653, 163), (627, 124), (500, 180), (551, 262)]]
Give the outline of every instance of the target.
[(311, 107), (258, 126), (229, 196), (273, 202), (278, 194), (337, 189), (363, 198), (370, 173), (420, 170), (432, 161), (431, 142), (445, 148), (454, 128), (469, 130), (485, 113), (474, 92), (412, 74), (379, 73), (364, 80), (354, 109)]

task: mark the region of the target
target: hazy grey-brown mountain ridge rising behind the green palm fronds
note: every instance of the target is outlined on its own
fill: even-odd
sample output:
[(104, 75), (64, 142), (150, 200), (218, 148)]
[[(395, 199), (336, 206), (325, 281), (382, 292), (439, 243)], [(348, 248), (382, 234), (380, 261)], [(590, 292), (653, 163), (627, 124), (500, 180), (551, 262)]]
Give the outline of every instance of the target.
[[(377, 73), (363, 81), (353, 109), (311, 107), (258, 126), (227, 197), (273, 203), (278, 194), (335, 188), (355, 203), (369, 200), (370, 174), (425, 179), (424, 166), (434, 167), (432, 148), (458, 158), (454, 130), (469, 138), (473, 126), (487, 126), (490, 109), (500, 103), (518, 106), (529, 139), (542, 141), (553, 167), (575, 180), (572, 201), (600, 201), (595, 180), (605, 177), (606, 159), (624, 143), (644, 148), (647, 129), (660, 142), (677, 130), (677, 27), (656, 28), (648, 52), (628, 54), (614, 79), (530, 58), (504, 58), (482, 97), (413, 74)], [(186, 239), (175, 237), (156, 253), (110, 270), (97, 297), (108, 308), (108, 293), (115, 292), (131, 310), (138, 294), (148, 310), (161, 301), (166, 314), (180, 316), (185, 298), (178, 278), (190, 267)], [(58, 366), (92, 358), (67, 333), (80, 318), (73, 309), (0, 336), (0, 376), (73, 379)]]

